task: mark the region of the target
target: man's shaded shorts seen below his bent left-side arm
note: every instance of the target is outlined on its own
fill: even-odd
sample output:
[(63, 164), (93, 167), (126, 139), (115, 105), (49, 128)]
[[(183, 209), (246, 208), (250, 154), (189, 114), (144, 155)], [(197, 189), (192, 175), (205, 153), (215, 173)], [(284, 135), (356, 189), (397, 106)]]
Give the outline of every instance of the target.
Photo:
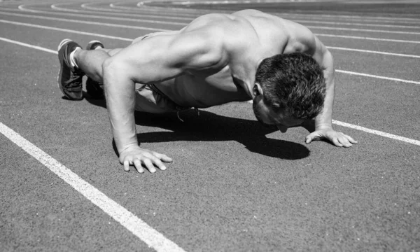
[(148, 113), (169, 113), (190, 109), (172, 102), (153, 84), (136, 83), (136, 111)]

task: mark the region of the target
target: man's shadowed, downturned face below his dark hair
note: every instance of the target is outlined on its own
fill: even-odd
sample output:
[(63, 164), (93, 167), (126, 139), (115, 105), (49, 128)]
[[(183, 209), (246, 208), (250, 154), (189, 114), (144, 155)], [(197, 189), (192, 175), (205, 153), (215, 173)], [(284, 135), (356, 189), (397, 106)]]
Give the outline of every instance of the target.
[(288, 127), (303, 123), (303, 120), (286, 117), (283, 113), (274, 113), (269, 106), (262, 101), (262, 96), (253, 99), (253, 111), (258, 122), (266, 127), (276, 127), (282, 133), (286, 133)]

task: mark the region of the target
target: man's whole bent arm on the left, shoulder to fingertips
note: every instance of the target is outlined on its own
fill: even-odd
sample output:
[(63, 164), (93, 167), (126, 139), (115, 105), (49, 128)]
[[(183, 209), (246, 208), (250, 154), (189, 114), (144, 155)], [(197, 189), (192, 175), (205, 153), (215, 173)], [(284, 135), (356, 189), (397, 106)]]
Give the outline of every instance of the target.
[(221, 56), (217, 47), (209, 47), (205, 42), (197, 35), (158, 36), (134, 43), (104, 62), (106, 104), (120, 162), (126, 171), (134, 165), (137, 171), (144, 172), (144, 165), (155, 172), (155, 166), (166, 169), (162, 161), (172, 162), (166, 155), (138, 145), (134, 83), (153, 83), (184, 71), (211, 68)]

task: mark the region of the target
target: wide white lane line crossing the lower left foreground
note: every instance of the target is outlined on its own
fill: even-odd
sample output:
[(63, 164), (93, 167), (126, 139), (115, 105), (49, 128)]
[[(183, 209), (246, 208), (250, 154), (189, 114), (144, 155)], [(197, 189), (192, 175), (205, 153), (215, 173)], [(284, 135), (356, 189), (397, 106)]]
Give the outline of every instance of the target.
[(144, 241), (149, 247), (152, 247), (159, 252), (184, 252), (184, 250), (173, 241), (170, 241), (160, 234), (160, 232), (147, 225), (147, 223), (141, 221), (141, 219), (132, 214), (132, 212), (111, 200), (108, 196), (104, 195), (104, 193), (90, 185), (90, 183), (81, 179), (80, 176), (71, 172), (70, 169), (43, 152), (40, 148), (34, 146), (34, 144), (31, 144), (31, 142), (27, 141), (27, 139), (20, 136), (20, 134), (14, 130), (3, 125), (3, 123), (0, 123), (0, 133), (41, 162), (41, 164), (45, 165), (45, 167), (48, 167), (51, 172), (54, 172), (60, 179), (64, 180), (72, 188), (78, 191), (78, 193), (86, 197), (87, 200), (90, 200), (90, 202), (102, 209), (102, 211), (111, 216), (120, 223), (120, 225), (123, 225), (124, 228), (130, 230), (130, 232), (141, 239), (141, 241)]

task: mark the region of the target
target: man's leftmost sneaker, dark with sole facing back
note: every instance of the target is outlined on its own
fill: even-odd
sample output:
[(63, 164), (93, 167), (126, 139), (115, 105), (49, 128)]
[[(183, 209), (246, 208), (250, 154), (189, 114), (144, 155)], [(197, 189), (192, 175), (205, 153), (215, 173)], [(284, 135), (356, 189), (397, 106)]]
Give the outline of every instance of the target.
[(84, 73), (74, 69), (70, 64), (70, 53), (76, 48), (82, 48), (70, 39), (64, 39), (58, 45), (58, 60), (60, 64), (58, 73), (58, 87), (65, 97), (71, 100), (83, 99), (82, 79)]

